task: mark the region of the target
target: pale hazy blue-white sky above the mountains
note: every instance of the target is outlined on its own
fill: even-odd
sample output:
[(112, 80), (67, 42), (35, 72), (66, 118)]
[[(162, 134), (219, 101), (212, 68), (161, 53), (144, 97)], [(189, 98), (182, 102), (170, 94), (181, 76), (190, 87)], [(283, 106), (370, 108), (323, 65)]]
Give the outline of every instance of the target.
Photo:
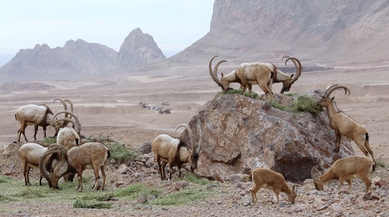
[(18, 0), (0, 2), (0, 66), (20, 49), (81, 38), (119, 51), (131, 30), (172, 56), (208, 33), (214, 0)]

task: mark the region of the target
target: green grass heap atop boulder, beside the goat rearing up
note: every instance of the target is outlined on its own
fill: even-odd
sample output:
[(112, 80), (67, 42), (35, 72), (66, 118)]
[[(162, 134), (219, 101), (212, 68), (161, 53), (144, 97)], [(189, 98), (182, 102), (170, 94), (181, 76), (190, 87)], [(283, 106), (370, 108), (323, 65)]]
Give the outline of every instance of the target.
[(290, 106), (284, 106), (278, 102), (273, 101), (271, 105), (274, 108), (280, 109), (282, 111), (289, 112), (309, 112), (312, 115), (319, 115), (323, 109), (316, 105), (316, 101), (308, 97), (308, 95), (301, 95), (294, 98)]

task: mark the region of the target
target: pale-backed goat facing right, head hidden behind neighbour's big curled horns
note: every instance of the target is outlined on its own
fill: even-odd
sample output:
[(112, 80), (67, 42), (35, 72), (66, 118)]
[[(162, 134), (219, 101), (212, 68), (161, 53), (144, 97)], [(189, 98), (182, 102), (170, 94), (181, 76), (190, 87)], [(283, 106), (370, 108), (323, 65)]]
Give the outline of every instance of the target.
[[(50, 148), (58, 148), (60, 145), (54, 145), (50, 146)], [(23, 176), (25, 179), (25, 185), (31, 185), (30, 179), (28, 178), (28, 175), (30, 174), (31, 168), (38, 168), (39, 167), (39, 160), (40, 158), (46, 153), (48, 150), (47, 147), (42, 146), (38, 143), (26, 143), (23, 144), (18, 150), (18, 156), (22, 162), (23, 165)], [(55, 154), (56, 155), (56, 154)], [(54, 156), (49, 156), (46, 160), (52, 159)], [(51, 170), (53, 164), (55, 164), (56, 161), (51, 160), (50, 163), (47, 161), (44, 162), (44, 165), (47, 170)], [(42, 175), (40, 175), (39, 179), (39, 185), (42, 186)]]

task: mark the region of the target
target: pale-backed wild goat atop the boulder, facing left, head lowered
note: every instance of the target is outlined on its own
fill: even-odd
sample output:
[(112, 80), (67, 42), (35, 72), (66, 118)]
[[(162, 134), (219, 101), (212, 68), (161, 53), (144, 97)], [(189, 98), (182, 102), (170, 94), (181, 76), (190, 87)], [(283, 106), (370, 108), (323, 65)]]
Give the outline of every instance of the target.
[(244, 62), (240, 64), (237, 69), (226, 76), (221, 73), (221, 79), (219, 80), (217, 78), (217, 68), (221, 63), (227, 61), (219, 61), (216, 64), (214, 71), (212, 71), (212, 60), (215, 57), (217, 56), (212, 57), (209, 61), (209, 74), (211, 75), (214, 82), (216, 82), (223, 91), (230, 89), (230, 83), (237, 82), (241, 84), (241, 87), (244, 87), (242, 90), (242, 95), (244, 94), (246, 88), (249, 87), (250, 96), (253, 98), (251, 86), (252, 84), (258, 84), (266, 94), (266, 101), (268, 101), (268, 97), (270, 97), (271, 101), (273, 101), (273, 77), (277, 76), (277, 68), (273, 64), (261, 62)]

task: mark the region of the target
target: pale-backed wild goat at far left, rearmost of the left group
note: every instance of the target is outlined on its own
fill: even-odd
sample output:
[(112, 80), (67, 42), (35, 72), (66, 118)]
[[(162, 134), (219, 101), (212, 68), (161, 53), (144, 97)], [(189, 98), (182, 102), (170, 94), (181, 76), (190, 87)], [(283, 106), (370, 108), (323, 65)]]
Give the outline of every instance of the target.
[(20, 128), (18, 130), (18, 142), (20, 142), (20, 135), (23, 133), (23, 136), (25, 137), (25, 141), (28, 142), (26, 135), (25, 135), (25, 129), (27, 125), (34, 125), (35, 127), (35, 133), (34, 133), (34, 140), (37, 140), (37, 132), (38, 127), (43, 127), (43, 134), (44, 138), (46, 138), (46, 127), (47, 126), (54, 126), (55, 128), (55, 134), (56, 136), (58, 134), (59, 127), (62, 123), (56, 123), (53, 124), (53, 111), (49, 108), (49, 106), (46, 106), (45, 104), (40, 105), (26, 105), (21, 106), (18, 111), (15, 113), (15, 119), (19, 121)]

